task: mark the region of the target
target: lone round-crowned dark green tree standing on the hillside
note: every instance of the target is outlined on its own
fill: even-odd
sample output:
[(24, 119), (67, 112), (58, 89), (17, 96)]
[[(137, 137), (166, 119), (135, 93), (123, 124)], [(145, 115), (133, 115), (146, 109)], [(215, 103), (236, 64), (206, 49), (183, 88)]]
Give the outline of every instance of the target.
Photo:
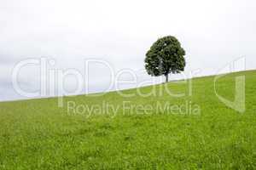
[(158, 39), (148, 50), (145, 68), (148, 75), (159, 77), (164, 75), (168, 82), (169, 73), (180, 73), (186, 65), (185, 50), (176, 37), (166, 36)]

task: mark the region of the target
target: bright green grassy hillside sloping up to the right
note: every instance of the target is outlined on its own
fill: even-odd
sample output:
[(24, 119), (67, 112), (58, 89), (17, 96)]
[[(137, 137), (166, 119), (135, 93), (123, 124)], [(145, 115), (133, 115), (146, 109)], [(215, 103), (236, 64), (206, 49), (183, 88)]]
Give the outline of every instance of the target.
[[(244, 113), (218, 99), (214, 77), (193, 79), (192, 95), (188, 83), (167, 84), (183, 97), (170, 96), (161, 84), (140, 88), (146, 97), (137, 89), (123, 92), (131, 97), (65, 97), (63, 108), (57, 99), (2, 102), (0, 169), (255, 169), (256, 71), (222, 77), (217, 92), (234, 99), (238, 75), (246, 77)], [(152, 89), (156, 93), (149, 95)], [(104, 102), (116, 113), (107, 113)], [(159, 109), (166, 103), (192, 111)], [(151, 110), (143, 107), (148, 105)]]

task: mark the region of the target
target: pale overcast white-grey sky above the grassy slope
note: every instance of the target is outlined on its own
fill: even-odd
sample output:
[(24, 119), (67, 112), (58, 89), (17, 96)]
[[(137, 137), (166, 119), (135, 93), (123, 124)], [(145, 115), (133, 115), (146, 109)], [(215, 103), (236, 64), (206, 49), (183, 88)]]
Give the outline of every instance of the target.
[[(187, 63), (171, 80), (218, 74), (241, 58), (239, 70), (256, 69), (255, 8), (253, 0), (0, 0), (0, 100), (162, 82), (147, 75), (144, 59), (168, 35), (181, 42)], [(66, 76), (56, 78), (58, 71)]]

